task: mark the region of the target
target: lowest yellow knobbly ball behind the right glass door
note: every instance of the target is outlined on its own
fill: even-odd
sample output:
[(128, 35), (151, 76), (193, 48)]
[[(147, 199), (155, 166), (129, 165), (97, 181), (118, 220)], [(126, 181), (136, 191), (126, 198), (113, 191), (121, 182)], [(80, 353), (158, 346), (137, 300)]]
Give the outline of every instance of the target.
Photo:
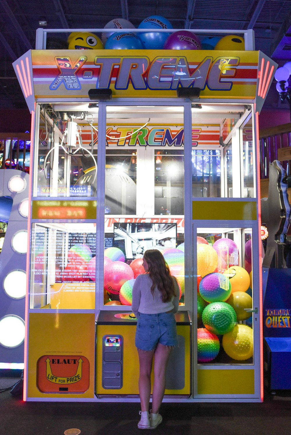
[(222, 345), (230, 358), (244, 361), (253, 356), (253, 330), (247, 325), (235, 325), (232, 331), (223, 335)]

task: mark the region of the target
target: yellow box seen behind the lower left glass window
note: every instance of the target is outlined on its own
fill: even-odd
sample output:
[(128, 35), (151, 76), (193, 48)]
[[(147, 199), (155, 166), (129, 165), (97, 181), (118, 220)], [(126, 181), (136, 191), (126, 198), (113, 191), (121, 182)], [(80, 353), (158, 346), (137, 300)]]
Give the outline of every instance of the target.
[(55, 283), (50, 289), (52, 309), (95, 309), (95, 282)]

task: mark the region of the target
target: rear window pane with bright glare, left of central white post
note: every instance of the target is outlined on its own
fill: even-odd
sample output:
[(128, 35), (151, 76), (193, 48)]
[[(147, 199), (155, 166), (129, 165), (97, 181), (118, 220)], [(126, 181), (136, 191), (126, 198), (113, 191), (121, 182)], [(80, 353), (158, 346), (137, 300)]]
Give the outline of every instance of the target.
[(106, 150), (105, 214), (136, 214), (136, 151)]

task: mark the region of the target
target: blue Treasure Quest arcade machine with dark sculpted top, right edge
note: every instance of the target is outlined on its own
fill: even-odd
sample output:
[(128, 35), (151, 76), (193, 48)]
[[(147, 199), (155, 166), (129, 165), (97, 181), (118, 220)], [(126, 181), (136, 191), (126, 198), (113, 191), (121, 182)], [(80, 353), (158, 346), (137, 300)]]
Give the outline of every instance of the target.
[(264, 370), (267, 387), (291, 389), (291, 251), (286, 234), (291, 222), (288, 177), (274, 160), (269, 170), (268, 197), (261, 200), (267, 235), (263, 261)]

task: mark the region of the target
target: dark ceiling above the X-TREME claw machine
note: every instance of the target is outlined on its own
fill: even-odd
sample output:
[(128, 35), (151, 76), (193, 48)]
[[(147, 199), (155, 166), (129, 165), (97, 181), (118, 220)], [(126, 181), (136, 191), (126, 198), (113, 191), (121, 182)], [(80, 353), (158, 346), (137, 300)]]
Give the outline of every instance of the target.
[(138, 27), (150, 15), (166, 17), (176, 29), (213, 30), (211, 36), (215, 29), (253, 29), (256, 50), (279, 64), (290, 60), (291, 0), (1, 0), (0, 107), (26, 107), (12, 62), (35, 48), (36, 30), (44, 27), (39, 21), (50, 29), (101, 29), (121, 17)]

